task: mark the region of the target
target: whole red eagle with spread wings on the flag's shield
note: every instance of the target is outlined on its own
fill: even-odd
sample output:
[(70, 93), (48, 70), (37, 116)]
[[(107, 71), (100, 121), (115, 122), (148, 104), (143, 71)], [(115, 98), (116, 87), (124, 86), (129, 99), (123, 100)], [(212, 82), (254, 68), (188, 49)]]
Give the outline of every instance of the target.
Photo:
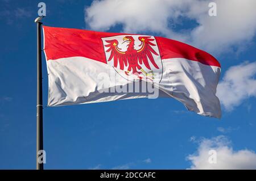
[[(114, 67), (124, 70), (127, 67), (125, 73), (129, 74), (144, 74), (146, 77), (154, 79), (154, 72), (152, 71), (152, 66), (154, 69), (159, 69), (159, 66), (156, 64), (153, 54), (159, 56), (159, 54), (152, 48), (156, 44), (152, 43), (155, 39), (152, 39), (151, 36), (139, 36), (138, 40), (141, 41), (141, 44), (138, 45), (138, 48), (135, 49), (135, 41), (133, 36), (123, 37), (123, 42), (127, 43), (127, 50), (123, 51), (118, 47), (118, 40), (105, 40), (106, 52), (110, 53), (110, 56), (107, 61), (114, 61)], [(149, 63), (151, 62), (151, 64)], [(141, 65), (146, 66), (148, 70), (146, 71), (142, 68)]]

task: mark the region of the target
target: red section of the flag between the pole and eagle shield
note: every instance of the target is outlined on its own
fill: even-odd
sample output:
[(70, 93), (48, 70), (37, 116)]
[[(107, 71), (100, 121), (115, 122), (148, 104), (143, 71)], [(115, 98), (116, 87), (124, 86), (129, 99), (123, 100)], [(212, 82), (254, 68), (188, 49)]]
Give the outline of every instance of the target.
[(79, 56), (106, 64), (101, 36), (109, 36), (109, 33), (47, 26), (43, 28), (47, 60)]

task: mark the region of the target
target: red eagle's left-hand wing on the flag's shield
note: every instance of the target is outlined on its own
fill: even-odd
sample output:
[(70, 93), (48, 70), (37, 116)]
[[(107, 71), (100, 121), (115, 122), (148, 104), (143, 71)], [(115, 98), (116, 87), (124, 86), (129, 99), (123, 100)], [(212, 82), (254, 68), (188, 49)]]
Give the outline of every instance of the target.
[(108, 47), (106, 52), (110, 52), (110, 57), (108, 61), (114, 58), (114, 67), (117, 68), (119, 62), (119, 68), (123, 70), (124, 66), (127, 66), (127, 57), (125, 52), (122, 52), (121, 49), (118, 48), (118, 41), (117, 40), (105, 40), (106, 44), (105, 47)]

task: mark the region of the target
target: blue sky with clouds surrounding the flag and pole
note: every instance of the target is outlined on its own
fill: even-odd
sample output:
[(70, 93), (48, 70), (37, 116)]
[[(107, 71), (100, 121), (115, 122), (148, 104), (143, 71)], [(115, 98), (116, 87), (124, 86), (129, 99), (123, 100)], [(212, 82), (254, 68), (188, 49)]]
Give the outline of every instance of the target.
[[(247, 2), (248, 6), (243, 5), (245, 10), (234, 15), (229, 11), (236, 11), (237, 7), (217, 1), (220, 18), (217, 15), (214, 20), (204, 13), (208, 6), (198, 6), (200, 1), (191, 5), (188, 1), (180, 1), (184, 2), (180, 5), (168, 3), (156, 10), (152, 8), (154, 4), (145, 1), (138, 5), (120, 1), (113, 9), (109, 8), (113, 5), (110, 0), (93, 4), (71, 0), (43, 2), (47, 6), (47, 17), (43, 19), (46, 26), (165, 36), (207, 50), (222, 66), (222, 86), (218, 90), (222, 118), (218, 120), (189, 112), (171, 98), (46, 107), (48, 80), (43, 56), (45, 169), (200, 169), (205, 168), (204, 164), (198, 165), (197, 161), (212, 148), (220, 151), (219, 156), (227, 158), (227, 163), (232, 157), (238, 168), (256, 168), (246, 161), (256, 158), (256, 25), (255, 13), (250, 11), (254, 1)], [(34, 19), (38, 3), (0, 0), (0, 169), (36, 167)], [(137, 11), (120, 11), (122, 3), (127, 11), (127, 3), (144, 7), (141, 18), (134, 19)], [(189, 9), (193, 6), (200, 8)], [(150, 10), (161, 10), (163, 14), (151, 17), (152, 12), (147, 14)], [(167, 10), (171, 14), (165, 15)], [(112, 12), (116, 13), (114, 18)], [(239, 23), (236, 16), (243, 20)], [(229, 24), (230, 17), (238, 23)], [(197, 30), (199, 26), (209, 31)], [(238, 158), (245, 160), (242, 166), (236, 161)]]

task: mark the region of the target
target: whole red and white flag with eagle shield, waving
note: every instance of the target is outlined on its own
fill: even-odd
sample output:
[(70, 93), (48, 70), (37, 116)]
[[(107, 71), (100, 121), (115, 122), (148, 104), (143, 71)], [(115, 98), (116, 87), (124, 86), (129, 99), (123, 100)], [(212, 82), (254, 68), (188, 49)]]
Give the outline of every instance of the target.
[[(171, 96), (190, 111), (221, 117), (220, 64), (203, 50), (164, 37), (47, 26), (43, 33), (48, 106), (147, 98), (148, 91), (111, 90), (148, 82), (159, 96)], [(101, 75), (113, 72), (114, 80), (102, 86)]]

